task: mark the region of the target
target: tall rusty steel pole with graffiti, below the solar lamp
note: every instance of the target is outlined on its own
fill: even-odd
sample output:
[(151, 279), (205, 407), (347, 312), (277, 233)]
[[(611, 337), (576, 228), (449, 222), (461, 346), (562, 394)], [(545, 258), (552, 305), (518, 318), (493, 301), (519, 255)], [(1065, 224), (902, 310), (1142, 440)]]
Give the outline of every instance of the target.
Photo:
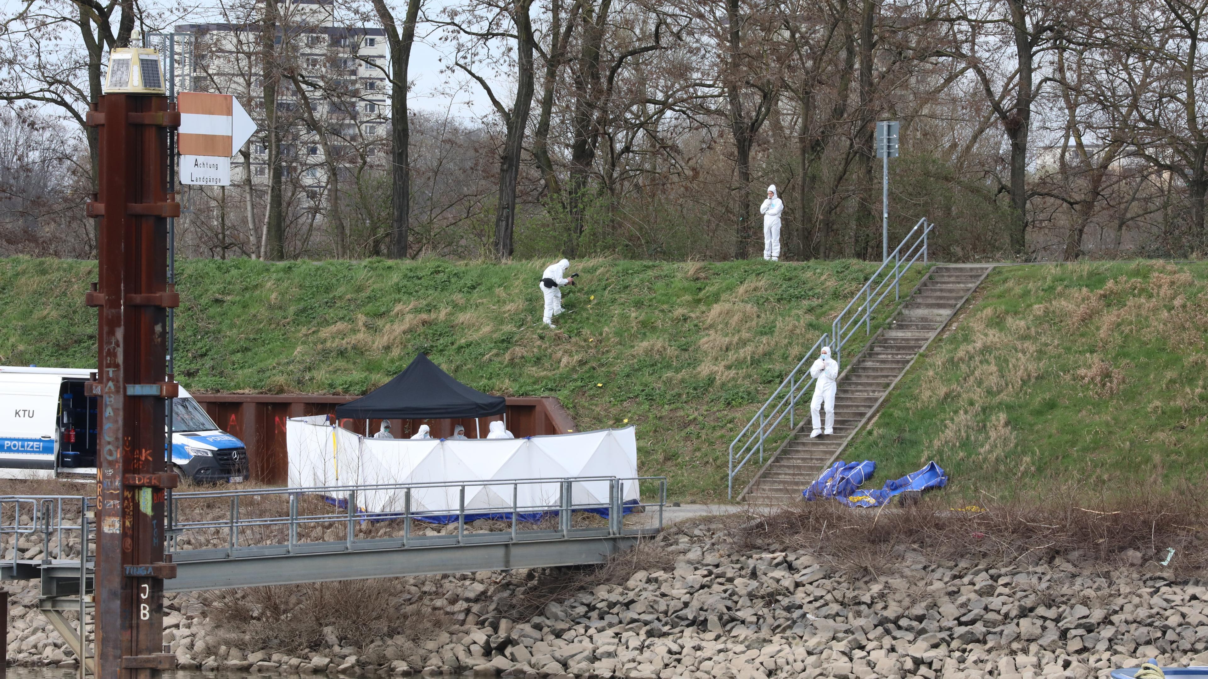
[(175, 667), (163, 650), (164, 491), (176, 475), (164, 462), (165, 309), (179, 304), (167, 282), (167, 217), (180, 215), (168, 191), (168, 130), (180, 124), (168, 98), (105, 94), (88, 112), (98, 128), (100, 178), (88, 215), (100, 217), (95, 677), (153, 679)]

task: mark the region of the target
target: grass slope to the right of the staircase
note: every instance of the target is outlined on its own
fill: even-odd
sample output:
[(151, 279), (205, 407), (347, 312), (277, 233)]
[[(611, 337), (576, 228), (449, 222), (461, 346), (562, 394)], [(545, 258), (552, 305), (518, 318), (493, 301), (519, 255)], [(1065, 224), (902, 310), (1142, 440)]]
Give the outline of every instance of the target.
[(1208, 470), (1208, 265), (999, 267), (846, 459), (948, 494), (1186, 491)]

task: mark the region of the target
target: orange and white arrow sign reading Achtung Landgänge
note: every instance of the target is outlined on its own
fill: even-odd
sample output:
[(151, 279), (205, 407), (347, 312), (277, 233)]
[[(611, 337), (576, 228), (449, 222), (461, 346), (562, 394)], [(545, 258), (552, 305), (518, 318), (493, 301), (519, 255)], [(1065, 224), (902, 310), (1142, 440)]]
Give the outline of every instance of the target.
[(256, 123), (230, 94), (181, 92), (176, 105), (180, 182), (230, 186), (231, 156), (256, 132)]

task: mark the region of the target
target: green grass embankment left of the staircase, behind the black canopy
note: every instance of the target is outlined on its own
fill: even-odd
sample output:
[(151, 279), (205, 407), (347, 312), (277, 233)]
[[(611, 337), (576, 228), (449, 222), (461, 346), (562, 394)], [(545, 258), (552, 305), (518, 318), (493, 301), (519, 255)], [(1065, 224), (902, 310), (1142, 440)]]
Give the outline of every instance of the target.
[[(581, 261), (548, 330), (547, 263), (182, 261), (176, 376), (364, 394), (425, 352), (476, 389), (557, 396), (582, 429), (635, 424), (643, 474), (719, 499), (731, 439), (877, 267)], [(0, 260), (0, 362), (94, 365), (92, 280), (93, 262)]]

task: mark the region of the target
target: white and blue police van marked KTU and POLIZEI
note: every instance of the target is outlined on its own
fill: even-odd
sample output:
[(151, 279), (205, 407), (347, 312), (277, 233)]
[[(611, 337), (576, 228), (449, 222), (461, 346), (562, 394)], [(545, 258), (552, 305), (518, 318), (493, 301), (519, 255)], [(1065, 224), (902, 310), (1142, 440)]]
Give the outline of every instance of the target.
[[(93, 372), (0, 366), (0, 478), (97, 478), (97, 396), (83, 390)], [(182, 478), (248, 477), (243, 441), (221, 431), (184, 387), (172, 416), (172, 464)]]

